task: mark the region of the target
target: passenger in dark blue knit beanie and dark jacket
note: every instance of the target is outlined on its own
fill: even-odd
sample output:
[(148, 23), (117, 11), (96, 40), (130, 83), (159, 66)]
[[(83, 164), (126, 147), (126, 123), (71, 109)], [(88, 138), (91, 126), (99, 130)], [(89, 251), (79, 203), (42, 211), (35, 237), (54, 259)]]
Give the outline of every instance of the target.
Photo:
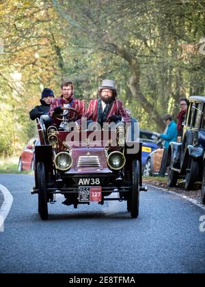
[(46, 87), (41, 94), (40, 99), (41, 105), (34, 107), (34, 109), (31, 109), (31, 111), (29, 112), (31, 120), (36, 120), (36, 118), (40, 119), (40, 117), (42, 116), (42, 118), (44, 118), (46, 128), (50, 126), (51, 118), (49, 118), (49, 110), (53, 98), (54, 98), (53, 91), (48, 87)]

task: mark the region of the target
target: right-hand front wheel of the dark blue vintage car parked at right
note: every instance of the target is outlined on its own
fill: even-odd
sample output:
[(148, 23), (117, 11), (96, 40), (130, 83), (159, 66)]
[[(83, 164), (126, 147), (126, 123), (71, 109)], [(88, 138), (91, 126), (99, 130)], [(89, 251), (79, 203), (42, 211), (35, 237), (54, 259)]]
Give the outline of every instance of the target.
[(193, 189), (193, 186), (197, 180), (198, 169), (199, 165), (197, 161), (191, 159), (186, 170), (185, 189), (187, 191)]

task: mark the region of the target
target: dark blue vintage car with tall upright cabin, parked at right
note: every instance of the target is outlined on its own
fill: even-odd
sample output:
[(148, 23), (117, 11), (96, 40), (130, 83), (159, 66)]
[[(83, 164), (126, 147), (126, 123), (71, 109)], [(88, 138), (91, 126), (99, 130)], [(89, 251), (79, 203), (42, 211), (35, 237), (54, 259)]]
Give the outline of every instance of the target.
[(182, 139), (169, 144), (167, 166), (168, 184), (175, 187), (178, 177), (185, 178), (185, 189), (193, 189), (202, 181), (205, 150), (205, 97), (191, 96), (187, 108)]

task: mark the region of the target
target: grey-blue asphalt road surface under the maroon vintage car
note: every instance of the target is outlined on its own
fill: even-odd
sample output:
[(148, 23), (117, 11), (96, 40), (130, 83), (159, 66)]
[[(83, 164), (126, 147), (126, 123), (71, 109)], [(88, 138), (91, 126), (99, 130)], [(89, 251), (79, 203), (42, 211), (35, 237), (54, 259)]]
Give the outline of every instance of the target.
[(175, 195), (141, 193), (138, 219), (126, 202), (49, 205), (41, 221), (33, 176), (0, 174), (14, 197), (0, 232), (0, 273), (205, 273), (205, 210)]

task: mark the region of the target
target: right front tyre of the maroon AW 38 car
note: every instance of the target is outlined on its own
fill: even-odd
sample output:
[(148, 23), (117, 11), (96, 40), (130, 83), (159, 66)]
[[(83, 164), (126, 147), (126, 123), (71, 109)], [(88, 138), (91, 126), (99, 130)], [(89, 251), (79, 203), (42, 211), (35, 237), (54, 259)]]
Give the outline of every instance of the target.
[(139, 215), (139, 161), (137, 159), (133, 161), (132, 167), (131, 217), (137, 218)]

